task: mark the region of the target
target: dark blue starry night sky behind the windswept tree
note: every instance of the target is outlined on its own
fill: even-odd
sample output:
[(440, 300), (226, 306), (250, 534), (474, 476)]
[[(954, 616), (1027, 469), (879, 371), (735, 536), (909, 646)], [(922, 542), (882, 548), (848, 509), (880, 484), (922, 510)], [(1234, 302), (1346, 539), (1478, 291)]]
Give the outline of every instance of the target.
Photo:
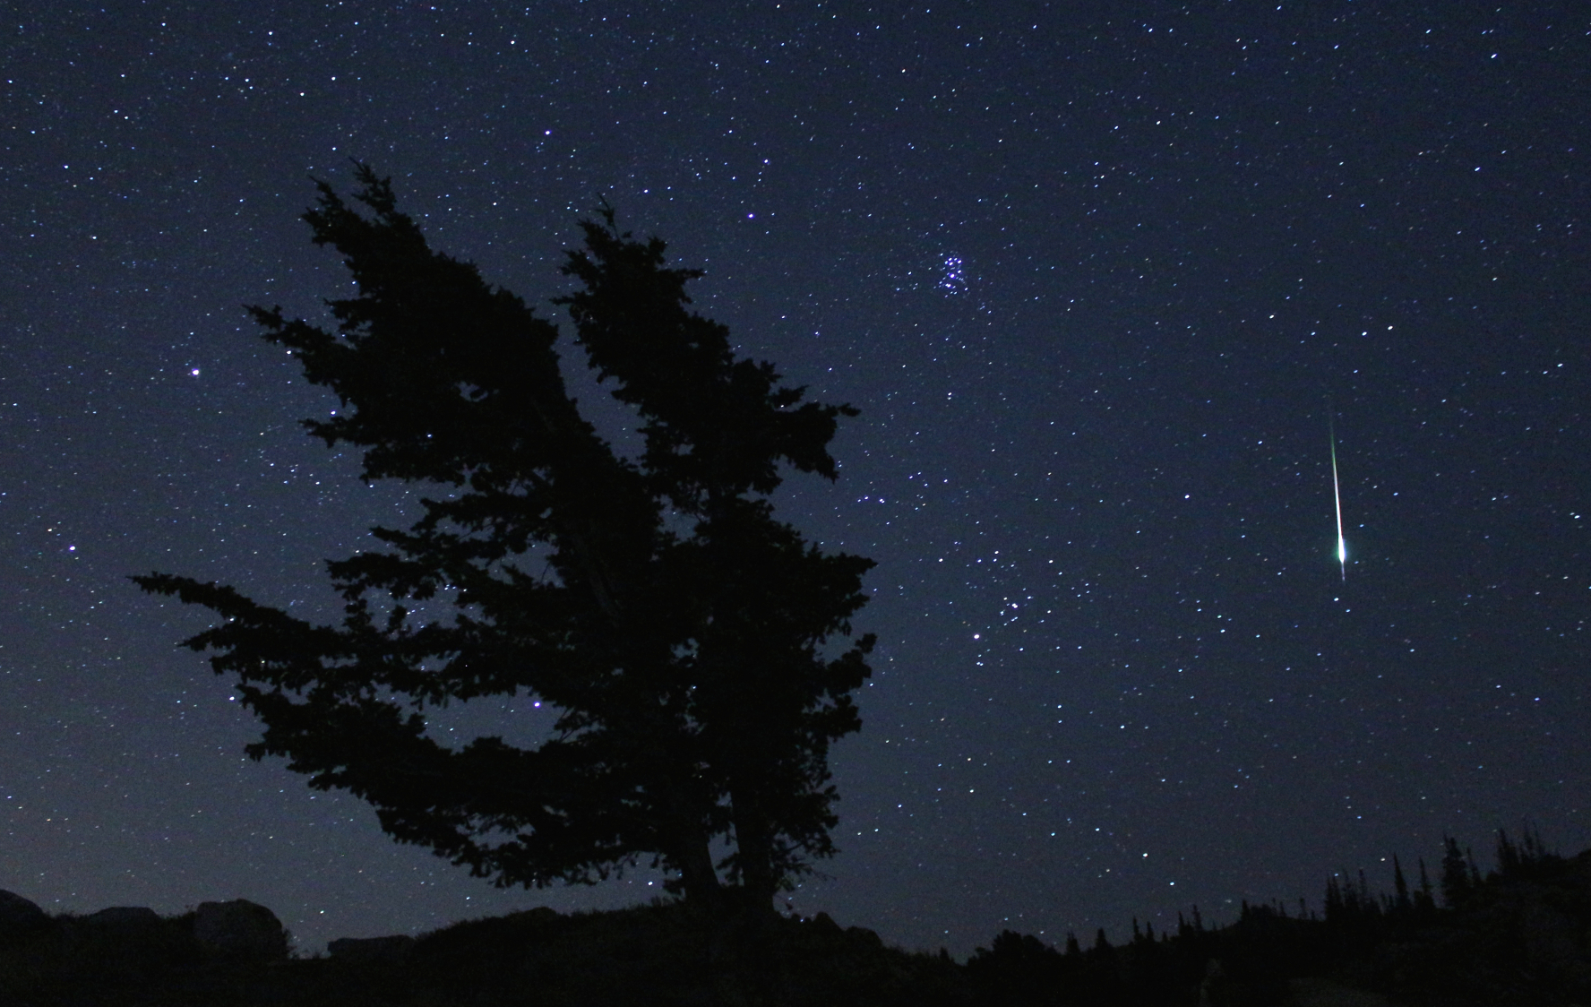
[(242, 309), (345, 294), (298, 215), (348, 157), (539, 304), (606, 197), (706, 270), (740, 352), (862, 410), (838, 484), (776, 498), (878, 562), (842, 851), (797, 910), (966, 955), (1319, 907), (1443, 834), (1483, 864), (1523, 821), (1591, 845), (1588, 30), (1391, 0), (11, 5), (0, 888), (247, 897), (305, 950), (659, 891), (498, 891), (247, 760), (253, 717), (175, 647), (208, 612), (127, 581), (329, 616), (320, 562), (403, 523)]

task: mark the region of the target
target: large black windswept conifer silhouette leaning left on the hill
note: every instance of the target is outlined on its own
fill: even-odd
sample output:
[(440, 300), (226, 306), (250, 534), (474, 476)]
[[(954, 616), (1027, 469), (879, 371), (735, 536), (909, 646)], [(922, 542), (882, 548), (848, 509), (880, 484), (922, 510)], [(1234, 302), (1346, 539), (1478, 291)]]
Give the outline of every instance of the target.
[[(557, 328), (431, 251), (387, 180), (358, 165), (358, 181), (369, 213), (320, 183), (305, 215), (358, 285), (329, 302), (336, 331), (250, 310), (352, 407), (309, 431), (363, 449), (366, 480), (420, 487), (423, 515), (328, 563), (340, 625), (134, 579), (221, 617), (186, 646), (213, 651), (264, 722), (250, 756), (371, 802), (396, 840), (498, 885), (651, 859), (689, 899), (729, 881), (767, 907), (834, 851), (827, 749), (859, 727), (872, 647), (850, 628), (870, 560), (810, 546), (768, 495), (784, 468), (834, 479), (827, 445), (854, 410), (735, 358), (687, 307), (700, 274), (665, 267), (663, 242), (619, 232), (605, 205), (560, 302), (641, 422), (627, 460), (568, 395)], [(527, 694), (557, 713), (538, 746), (426, 730), (430, 708)], [(716, 864), (714, 840), (730, 843)]]

